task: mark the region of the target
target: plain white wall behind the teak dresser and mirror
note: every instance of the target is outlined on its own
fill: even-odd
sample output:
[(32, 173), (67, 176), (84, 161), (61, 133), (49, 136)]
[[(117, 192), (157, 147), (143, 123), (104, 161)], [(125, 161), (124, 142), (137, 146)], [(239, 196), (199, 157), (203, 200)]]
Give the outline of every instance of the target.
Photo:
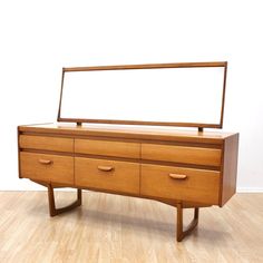
[(263, 189), (262, 1), (0, 2), (0, 189), (18, 179), (17, 125), (56, 120), (67, 66), (228, 60), (224, 130), (240, 189)]

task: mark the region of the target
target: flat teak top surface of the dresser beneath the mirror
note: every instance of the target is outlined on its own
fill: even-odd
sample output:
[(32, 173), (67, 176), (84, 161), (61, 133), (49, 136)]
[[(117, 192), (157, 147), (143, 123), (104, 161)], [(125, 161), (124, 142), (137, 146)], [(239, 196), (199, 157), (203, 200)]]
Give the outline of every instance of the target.
[(135, 126), (135, 125), (108, 125), (108, 124), (76, 124), (49, 123), (19, 126), (20, 132), (45, 133), (60, 135), (104, 136), (123, 137), (135, 139), (159, 139), (159, 140), (189, 140), (198, 143), (221, 143), (234, 135), (223, 132), (198, 132), (183, 130), (176, 127)]

